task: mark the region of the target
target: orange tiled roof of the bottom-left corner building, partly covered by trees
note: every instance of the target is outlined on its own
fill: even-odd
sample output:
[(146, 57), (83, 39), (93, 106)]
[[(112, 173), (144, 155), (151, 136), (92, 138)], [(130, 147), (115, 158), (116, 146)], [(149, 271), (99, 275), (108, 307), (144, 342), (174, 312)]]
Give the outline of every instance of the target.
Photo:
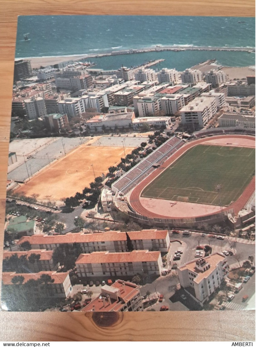
[(2, 273), (2, 281), (5, 285), (12, 285), (12, 278), (15, 276), (24, 277), (24, 282), (26, 283), (30, 279), (37, 280), (41, 275), (47, 274), (54, 279), (54, 283), (63, 283), (68, 276), (68, 272), (56, 272), (56, 271), (40, 271), (37, 273), (16, 273), (16, 272), (3, 272)]

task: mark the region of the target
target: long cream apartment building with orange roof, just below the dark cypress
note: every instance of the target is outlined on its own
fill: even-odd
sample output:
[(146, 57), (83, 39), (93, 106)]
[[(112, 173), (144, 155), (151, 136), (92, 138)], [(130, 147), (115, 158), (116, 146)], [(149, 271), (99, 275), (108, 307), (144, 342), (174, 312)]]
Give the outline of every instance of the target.
[(134, 276), (136, 273), (160, 275), (163, 268), (161, 252), (148, 250), (126, 253), (93, 252), (80, 254), (76, 259), (79, 277)]

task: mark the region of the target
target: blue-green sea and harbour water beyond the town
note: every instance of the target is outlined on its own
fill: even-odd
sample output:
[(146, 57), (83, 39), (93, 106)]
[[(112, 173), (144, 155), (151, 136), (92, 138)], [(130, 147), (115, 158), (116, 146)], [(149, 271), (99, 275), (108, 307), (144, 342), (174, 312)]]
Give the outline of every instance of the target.
[[(24, 40), (27, 34), (29, 40)], [(15, 58), (88, 55), (97, 68), (138, 66), (165, 59), (160, 68), (182, 71), (207, 59), (222, 66), (254, 66), (255, 53), (161, 51), (91, 58), (90, 54), (173, 46), (255, 48), (254, 17), (19, 16)], [(155, 66), (153, 68), (159, 68)]]

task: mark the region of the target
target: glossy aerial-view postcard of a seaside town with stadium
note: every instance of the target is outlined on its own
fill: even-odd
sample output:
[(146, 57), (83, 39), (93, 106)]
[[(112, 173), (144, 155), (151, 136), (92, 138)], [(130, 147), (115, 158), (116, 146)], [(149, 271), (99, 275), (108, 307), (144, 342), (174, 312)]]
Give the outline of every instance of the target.
[(255, 18), (19, 17), (1, 310), (255, 310)]

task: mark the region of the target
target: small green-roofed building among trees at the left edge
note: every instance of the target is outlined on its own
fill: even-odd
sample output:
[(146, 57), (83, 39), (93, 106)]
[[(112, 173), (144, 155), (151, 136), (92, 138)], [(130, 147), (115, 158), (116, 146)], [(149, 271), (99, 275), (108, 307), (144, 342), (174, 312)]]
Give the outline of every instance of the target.
[(34, 235), (36, 231), (36, 222), (27, 221), (27, 216), (11, 217), (7, 226), (7, 231), (11, 234), (22, 236)]

